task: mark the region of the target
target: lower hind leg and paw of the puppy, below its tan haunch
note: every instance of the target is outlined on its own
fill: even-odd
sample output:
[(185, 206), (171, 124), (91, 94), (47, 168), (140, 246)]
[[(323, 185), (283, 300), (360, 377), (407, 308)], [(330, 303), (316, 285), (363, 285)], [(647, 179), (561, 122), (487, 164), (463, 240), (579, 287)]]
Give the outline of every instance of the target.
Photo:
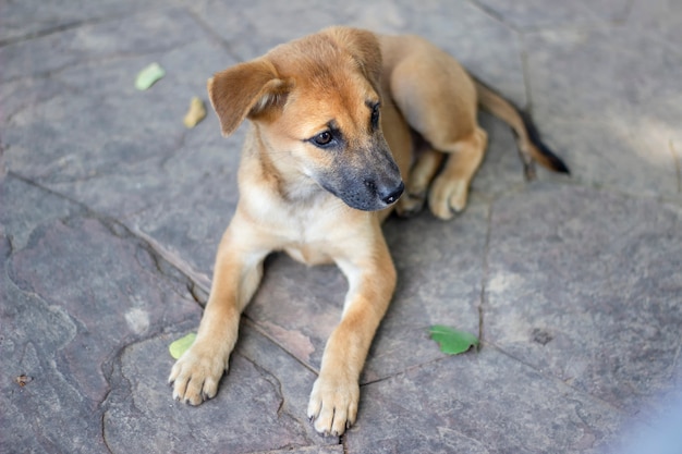
[(466, 207), (468, 185), (480, 165), (487, 144), (488, 135), (478, 126), (468, 137), (453, 144), (434, 144), (437, 149), (450, 154), (428, 194), (429, 209), (436, 217), (451, 219)]

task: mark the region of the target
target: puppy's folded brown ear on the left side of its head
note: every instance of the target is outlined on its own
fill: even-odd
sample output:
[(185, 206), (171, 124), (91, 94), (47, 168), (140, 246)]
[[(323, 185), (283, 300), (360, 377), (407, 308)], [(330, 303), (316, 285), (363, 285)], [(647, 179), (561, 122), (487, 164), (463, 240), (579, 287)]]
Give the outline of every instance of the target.
[(216, 73), (208, 79), (207, 88), (222, 135), (228, 136), (245, 118), (255, 120), (281, 108), (291, 84), (278, 77), (272, 63), (258, 59)]

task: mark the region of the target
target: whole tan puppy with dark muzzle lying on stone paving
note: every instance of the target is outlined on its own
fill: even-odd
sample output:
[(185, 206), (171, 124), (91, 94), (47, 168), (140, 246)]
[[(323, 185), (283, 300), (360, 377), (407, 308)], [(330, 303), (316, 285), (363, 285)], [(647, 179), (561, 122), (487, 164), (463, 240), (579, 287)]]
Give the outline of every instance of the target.
[[(426, 200), (441, 219), (464, 209), (487, 144), (477, 102), (512, 126), (527, 174), (532, 160), (568, 173), (529, 118), (416, 36), (327, 28), (217, 73), (208, 94), (223, 135), (244, 119), (251, 130), (197, 338), (169, 378), (193, 405), (216, 395), (264, 259), (284, 250), (336, 262), (349, 281), (307, 414), (334, 435), (355, 421), (360, 373), (395, 287), (381, 221)], [(418, 157), (415, 135), (427, 145)]]

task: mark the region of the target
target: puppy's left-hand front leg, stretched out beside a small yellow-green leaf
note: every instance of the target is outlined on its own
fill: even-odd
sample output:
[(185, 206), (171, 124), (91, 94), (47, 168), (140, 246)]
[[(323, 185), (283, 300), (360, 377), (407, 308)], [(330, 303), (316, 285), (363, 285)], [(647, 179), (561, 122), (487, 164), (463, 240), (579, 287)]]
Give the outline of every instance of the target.
[(178, 359), (169, 382), (173, 398), (198, 405), (218, 391), (236, 342), (242, 310), (258, 287), (267, 251), (249, 247), (235, 216), (218, 248), (210, 296), (196, 340)]

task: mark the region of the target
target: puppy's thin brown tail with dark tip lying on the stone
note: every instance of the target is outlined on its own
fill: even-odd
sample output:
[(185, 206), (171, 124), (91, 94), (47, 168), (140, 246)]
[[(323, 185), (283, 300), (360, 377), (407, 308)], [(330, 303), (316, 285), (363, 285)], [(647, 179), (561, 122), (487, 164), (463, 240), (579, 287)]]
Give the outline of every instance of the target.
[(533, 160), (555, 172), (571, 174), (561, 158), (543, 143), (539, 132), (528, 113), (514, 107), (480, 81), (474, 79), (474, 83), (476, 84), (476, 94), (478, 95), (480, 107), (512, 127), (516, 136), (516, 144), (527, 179), (531, 180), (535, 176)]

